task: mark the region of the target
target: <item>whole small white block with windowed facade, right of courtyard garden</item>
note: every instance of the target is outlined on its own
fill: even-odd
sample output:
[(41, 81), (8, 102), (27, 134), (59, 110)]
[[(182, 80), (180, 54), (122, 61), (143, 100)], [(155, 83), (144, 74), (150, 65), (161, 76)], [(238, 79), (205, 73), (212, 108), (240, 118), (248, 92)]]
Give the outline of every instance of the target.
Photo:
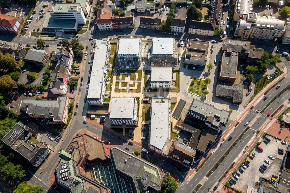
[(171, 67), (152, 67), (150, 77), (151, 88), (171, 88), (172, 68)]

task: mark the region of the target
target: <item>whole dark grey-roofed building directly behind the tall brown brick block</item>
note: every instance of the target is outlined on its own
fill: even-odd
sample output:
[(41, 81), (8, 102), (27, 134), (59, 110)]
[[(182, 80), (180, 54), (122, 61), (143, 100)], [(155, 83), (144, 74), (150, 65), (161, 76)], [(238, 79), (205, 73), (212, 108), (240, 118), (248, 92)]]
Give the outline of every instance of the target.
[(226, 52), (228, 48), (232, 49), (232, 52), (237, 52), (239, 59), (246, 59), (250, 53), (251, 42), (238, 41), (231, 39), (224, 39), (222, 43), (222, 52)]

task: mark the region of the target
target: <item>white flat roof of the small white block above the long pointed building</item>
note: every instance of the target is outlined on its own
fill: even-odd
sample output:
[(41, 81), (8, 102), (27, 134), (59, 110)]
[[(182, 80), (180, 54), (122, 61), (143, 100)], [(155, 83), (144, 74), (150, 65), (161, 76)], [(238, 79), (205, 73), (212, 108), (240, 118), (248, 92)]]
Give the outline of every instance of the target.
[(171, 67), (151, 68), (151, 81), (171, 81)]

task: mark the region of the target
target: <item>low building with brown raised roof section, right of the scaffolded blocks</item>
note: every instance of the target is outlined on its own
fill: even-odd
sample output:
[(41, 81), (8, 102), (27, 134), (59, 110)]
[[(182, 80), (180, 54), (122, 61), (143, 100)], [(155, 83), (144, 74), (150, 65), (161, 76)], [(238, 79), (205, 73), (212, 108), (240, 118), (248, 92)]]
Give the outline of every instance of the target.
[(184, 63), (205, 67), (208, 52), (209, 41), (188, 39)]

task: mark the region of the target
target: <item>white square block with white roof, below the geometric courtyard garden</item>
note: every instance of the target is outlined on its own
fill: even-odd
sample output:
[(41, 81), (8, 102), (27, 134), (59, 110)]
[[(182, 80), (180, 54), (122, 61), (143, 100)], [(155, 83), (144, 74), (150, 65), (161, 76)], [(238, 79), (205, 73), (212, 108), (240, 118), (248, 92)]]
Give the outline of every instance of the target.
[(137, 125), (138, 104), (134, 97), (113, 97), (109, 121), (112, 125)]

